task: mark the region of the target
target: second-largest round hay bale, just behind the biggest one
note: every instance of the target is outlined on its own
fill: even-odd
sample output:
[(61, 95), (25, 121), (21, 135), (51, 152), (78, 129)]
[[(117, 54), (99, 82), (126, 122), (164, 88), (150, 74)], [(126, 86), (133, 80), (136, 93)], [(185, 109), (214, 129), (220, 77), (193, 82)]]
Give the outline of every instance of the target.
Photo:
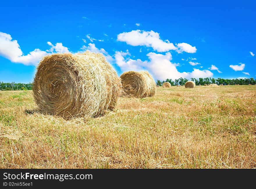
[(124, 72), (120, 78), (123, 97), (145, 98), (155, 95), (156, 83), (147, 71)]

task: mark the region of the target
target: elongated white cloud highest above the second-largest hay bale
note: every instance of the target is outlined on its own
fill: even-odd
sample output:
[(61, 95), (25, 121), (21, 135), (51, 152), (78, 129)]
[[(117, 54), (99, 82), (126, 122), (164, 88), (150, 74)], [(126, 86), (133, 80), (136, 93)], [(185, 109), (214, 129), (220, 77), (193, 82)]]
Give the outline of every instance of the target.
[(176, 49), (173, 43), (161, 40), (159, 33), (154, 32), (152, 30), (132, 30), (131, 32), (123, 32), (118, 34), (117, 40), (126, 42), (128, 45), (132, 46), (152, 47), (154, 50), (158, 52), (167, 52), (169, 50)]

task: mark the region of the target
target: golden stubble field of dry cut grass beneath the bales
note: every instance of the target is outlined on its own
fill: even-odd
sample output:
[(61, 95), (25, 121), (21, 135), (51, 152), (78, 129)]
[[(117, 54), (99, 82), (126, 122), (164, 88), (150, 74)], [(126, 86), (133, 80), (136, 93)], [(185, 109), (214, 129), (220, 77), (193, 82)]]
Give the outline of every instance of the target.
[(34, 111), (0, 91), (0, 168), (256, 168), (256, 86), (172, 86), (104, 117)]

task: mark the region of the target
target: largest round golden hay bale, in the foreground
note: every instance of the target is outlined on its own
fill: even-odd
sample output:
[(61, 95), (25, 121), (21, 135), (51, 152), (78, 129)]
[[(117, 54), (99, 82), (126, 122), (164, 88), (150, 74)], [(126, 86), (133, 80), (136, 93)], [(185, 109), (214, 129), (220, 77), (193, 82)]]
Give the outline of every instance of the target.
[(121, 82), (102, 54), (52, 54), (37, 67), (33, 96), (38, 109), (64, 118), (98, 117), (113, 110)]

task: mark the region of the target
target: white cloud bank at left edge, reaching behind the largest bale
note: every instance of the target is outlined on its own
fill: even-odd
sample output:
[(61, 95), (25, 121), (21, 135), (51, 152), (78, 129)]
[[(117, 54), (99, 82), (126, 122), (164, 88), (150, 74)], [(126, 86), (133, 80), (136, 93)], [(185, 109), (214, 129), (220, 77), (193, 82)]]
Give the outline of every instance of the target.
[(0, 32), (0, 55), (15, 63), (23, 63), (25, 65), (37, 65), (40, 59), (53, 52), (69, 52), (67, 47), (62, 43), (56, 43), (55, 46), (51, 42), (47, 42), (51, 47), (49, 50), (42, 51), (38, 48), (24, 55), (17, 40), (13, 40), (10, 34)]

